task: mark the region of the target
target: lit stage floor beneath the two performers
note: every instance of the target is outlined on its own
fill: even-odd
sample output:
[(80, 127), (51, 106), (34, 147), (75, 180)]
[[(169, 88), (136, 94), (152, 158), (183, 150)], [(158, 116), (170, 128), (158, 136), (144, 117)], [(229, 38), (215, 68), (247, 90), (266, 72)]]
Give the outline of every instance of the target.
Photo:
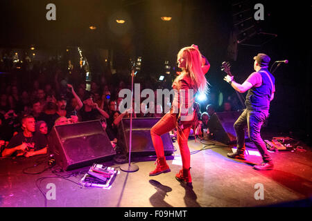
[[(278, 206), (299, 205), (311, 206), (312, 196), (312, 154), (306, 151), (279, 151), (272, 153), (275, 163), (273, 171), (256, 171), (252, 163), (261, 162), (259, 153), (248, 148), (247, 160), (242, 162), (227, 157), (231, 146), (215, 141), (195, 142), (189, 140), (191, 155), (191, 175), (193, 190), (175, 180), (175, 173), (181, 168), (180, 151), (168, 157), (170, 173), (150, 177), (148, 173), (155, 169), (155, 157), (149, 161), (132, 158), (139, 171), (125, 173), (120, 171), (119, 164), (105, 162), (120, 171), (112, 183), (111, 189), (86, 188), (79, 182), (89, 166), (67, 171), (63, 177), (76, 172), (65, 180), (55, 177), (52, 170), (44, 173), (28, 175), (23, 169), (38, 164), (27, 173), (42, 171), (46, 163), (40, 164), (42, 157), (0, 160), (0, 206), (35, 206), (35, 207), (210, 207), (210, 206)], [(202, 148), (205, 150), (200, 151)], [(146, 158), (145, 158), (146, 160)], [(40, 177), (49, 177), (42, 178)], [(71, 181), (73, 182), (71, 182)], [(55, 200), (45, 200), (47, 184), (55, 184)], [(263, 200), (255, 199), (259, 195), (259, 186), (263, 185)], [(258, 191), (258, 192), (257, 192)], [(257, 193), (256, 193), (257, 192)], [(255, 194), (256, 193), (256, 194)]]

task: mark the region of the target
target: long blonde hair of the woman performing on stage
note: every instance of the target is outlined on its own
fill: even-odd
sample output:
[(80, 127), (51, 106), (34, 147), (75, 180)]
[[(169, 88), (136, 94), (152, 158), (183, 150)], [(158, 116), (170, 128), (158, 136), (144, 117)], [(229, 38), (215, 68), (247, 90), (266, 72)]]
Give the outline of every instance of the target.
[(177, 76), (176, 80), (179, 81), (185, 75), (188, 75), (191, 77), (191, 84), (200, 93), (207, 93), (208, 84), (205, 74), (202, 72), (202, 55), (200, 51), (194, 47), (185, 47), (177, 53), (177, 61), (180, 57), (184, 57), (186, 66), (182, 68), (182, 73)]

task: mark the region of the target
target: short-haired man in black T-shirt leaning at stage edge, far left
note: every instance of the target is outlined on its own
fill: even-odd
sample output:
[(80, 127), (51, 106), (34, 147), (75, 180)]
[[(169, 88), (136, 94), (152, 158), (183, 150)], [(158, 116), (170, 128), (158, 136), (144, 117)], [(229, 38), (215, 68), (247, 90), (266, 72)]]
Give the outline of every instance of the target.
[(47, 153), (46, 137), (35, 133), (35, 118), (24, 115), (21, 119), (23, 131), (13, 136), (2, 152), (3, 157), (20, 156), (31, 157)]

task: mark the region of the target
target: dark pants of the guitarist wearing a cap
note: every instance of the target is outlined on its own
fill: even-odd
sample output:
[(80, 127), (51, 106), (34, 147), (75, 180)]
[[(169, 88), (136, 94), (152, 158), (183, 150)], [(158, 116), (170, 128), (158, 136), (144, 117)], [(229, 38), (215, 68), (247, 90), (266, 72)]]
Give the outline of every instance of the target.
[(244, 151), (245, 147), (245, 133), (244, 128), (248, 126), (248, 136), (252, 142), (257, 146), (262, 155), (263, 162), (271, 162), (272, 158), (268, 153), (266, 144), (263, 142), (260, 130), (263, 122), (268, 117), (268, 111), (250, 111), (245, 109), (239, 119), (234, 124), (234, 129), (237, 138), (237, 151)]

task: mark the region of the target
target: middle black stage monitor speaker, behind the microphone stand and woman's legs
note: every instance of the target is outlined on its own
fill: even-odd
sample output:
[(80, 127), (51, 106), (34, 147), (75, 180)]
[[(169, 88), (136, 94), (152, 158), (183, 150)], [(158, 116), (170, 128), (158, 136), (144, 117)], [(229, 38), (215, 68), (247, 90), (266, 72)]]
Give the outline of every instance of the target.
[[(137, 117), (132, 118), (132, 147), (131, 154), (156, 155), (153, 146), (150, 129), (159, 121), (159, 117)], [(129, 153), (129, 137), (130, 137), (130, 118), (123, 118), (119, 131), (119, 145)], [(169, 133), (165, 133), (162, 137), (165, 155), (172, 155), (174, 152), (173, 142)]]

